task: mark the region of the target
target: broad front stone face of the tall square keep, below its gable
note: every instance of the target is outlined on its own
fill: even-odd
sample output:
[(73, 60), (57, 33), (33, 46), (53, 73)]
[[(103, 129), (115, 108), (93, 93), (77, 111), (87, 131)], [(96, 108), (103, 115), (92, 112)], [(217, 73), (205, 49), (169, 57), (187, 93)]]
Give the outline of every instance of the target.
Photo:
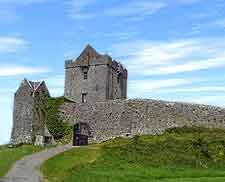
[(84, 79), (82, 67), (66, 68), (65, 97), (82, 102), (82, 93), (87, 93), (87, 102), (105, 101), (108, 89), (108, 66), (89, 65), (88, 78)]

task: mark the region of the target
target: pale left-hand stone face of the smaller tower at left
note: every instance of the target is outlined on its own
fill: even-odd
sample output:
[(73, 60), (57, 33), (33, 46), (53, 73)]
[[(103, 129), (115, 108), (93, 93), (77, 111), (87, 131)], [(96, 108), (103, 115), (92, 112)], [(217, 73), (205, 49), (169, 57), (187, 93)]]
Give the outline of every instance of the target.
[(29, 85), (22, 84), (14, 97), (11, 143), (32, 143), (33, 99)]

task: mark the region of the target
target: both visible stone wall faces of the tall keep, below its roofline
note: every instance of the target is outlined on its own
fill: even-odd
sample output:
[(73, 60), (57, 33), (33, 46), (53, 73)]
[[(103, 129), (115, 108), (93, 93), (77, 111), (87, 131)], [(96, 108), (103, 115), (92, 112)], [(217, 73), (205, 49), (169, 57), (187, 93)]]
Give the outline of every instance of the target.
[(75, 62), (66, 66), (65, 97), (77, 103), (82, 93), (87, 93), (87, 102), (121, 99), (127, 96), (127, 78), (106, 64), (89, 65), (88, 78), (84, 79), (82, 66)]

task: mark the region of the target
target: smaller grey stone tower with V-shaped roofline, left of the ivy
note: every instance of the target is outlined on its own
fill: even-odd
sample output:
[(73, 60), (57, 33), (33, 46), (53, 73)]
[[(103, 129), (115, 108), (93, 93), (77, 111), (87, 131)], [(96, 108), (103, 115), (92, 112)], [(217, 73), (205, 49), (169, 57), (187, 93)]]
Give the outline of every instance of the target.
[(12, 144), (51, 143), (52, 136), (45, 126), (49, 96), (44, 81), (22, 81), (14, 96)]

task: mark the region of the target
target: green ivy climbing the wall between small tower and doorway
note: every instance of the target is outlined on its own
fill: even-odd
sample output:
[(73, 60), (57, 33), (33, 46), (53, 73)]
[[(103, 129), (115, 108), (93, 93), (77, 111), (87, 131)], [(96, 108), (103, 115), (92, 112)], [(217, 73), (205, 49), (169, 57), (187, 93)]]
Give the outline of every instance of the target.
[(47, 109), (47, 127), (53, 137), (58, 140), (70, 135), (71, 126), (60, 117), (59, 106), (65, 102), (64, 97), (49, 98)]

